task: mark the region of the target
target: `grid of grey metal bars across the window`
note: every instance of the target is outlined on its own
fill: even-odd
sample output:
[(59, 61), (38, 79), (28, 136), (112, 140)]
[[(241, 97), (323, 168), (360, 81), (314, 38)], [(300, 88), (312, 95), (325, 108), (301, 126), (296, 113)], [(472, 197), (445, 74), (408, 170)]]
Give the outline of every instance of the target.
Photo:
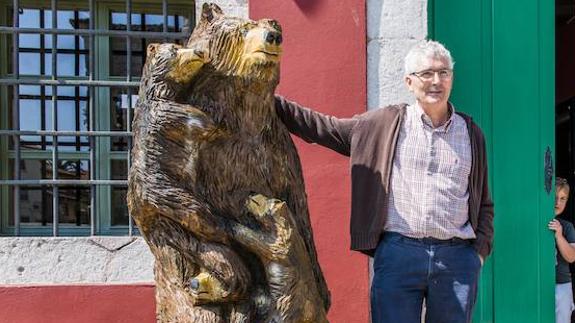
[[(132, 1), (126, 0), (125, 1), (125, 14), (126, 14), (126, 28), (125, 30), (112, 30), (111, 28), (96, 28), (96, 3), (95, 0), (89, 0), (88, 4), (88, 13), (89, 13), (89, 23), (87, 28), (81, 29), (78, 28), (78, 21), (79, 16), (78, 12), (74, 12), (74, 28), (73, 29), (63, 29), (58, 27), (58, 3), (56, 0), (49, 1), (50, 3), (50, 11), (51, 11), (51, 24), (48, 26), (45, 24), (44, 16), (45, 10), (43, 9), (40, 14), (40, 28), (30, 28), (30, 27), (21, 27), (20, 26), (20, 14), (22, 13), (22, 9), (20, 7), (20, 2), (18, 0), (14, 0), (12, 3), (12, 8), (18, 8), (17, 10), (12, 10), (12, 26), (0, 26), (0, 34), (12, 34), (12, 77), (4, 77), (0, 78), (0, 86), (7, 87), (8, 89), (12, 87), (12, 127), (10, 129), (4, 130), (0, 129), (0, 138), (12, 138), (13, 145), (11, 147), (11, 156), (14, 160), (14, 167), (13, 167), (13, 179), (10, 180), (0, 180), (0, 187), (4, 188), (13, 188), (13, 224), (14, 224), (14, 235), (20, 236), (22, 231), (22, 218), (21, 218), (21, 201), (23, 198), (22, 190), (26, 187), (41, 187), (43, 196), (49, 196), (51, 198), (51, 208), (52, 208), (52, 235), (59, 236), (60, 235), (60, 221), (59, 221), (59, 214), (60, 214), (60, 196), (64, 193), (62, 191), (66, 190), (66, 187), (71, 186), (86, 186), (89, 188), (89, 226), (90, 226), (90, 235), (97, 235), (99, 234), (97, 228), (97, 222), (99, 219), (99, 210), (98, 210), (98, 187), (106, 186), (112, 189), (113, 187), (127, 187), (127, 180), (119, 180), (119, 179), (100, 179), (98, 178), (97, 174), (97, 166), (99, 161), (99, 155), (97, 155), (97, 138), (125, 138), (126, 140), (126, 156), (125, 160), (127, 163), (127, 169), (130, 168), (131, 165), (131, 158), (130, 158), (130, 151), (132, 148), (132, 129), (131, 129), (131, 119), (132, 119), (132, 93), (134, 93), (134, 87), (139, 86), (139, 82), (133, 79), (132, 76), (132, 56), (133, 56), (133, 41), (134, 38), (141, 39), (141, 53), (138, 55), (141, 56), (143, 62), (145, 60), (145, 41), (149, 39), (163, 39), (165, 41), (173, 41), (173, 40), (185, 40), (188, 38), (190, 33), (190, 28), (186, 28), (186, 26), (181, 26), (181, 31), (177, 31), (180, 26), (179, 20), (177, 16), (174, 19), (175, 24), (175, 31), (169, 30), (169, 23), (168, 23), (168, 2), (167, 0), (162, 1), (161, 5), (161, 25), (162, 31), (148, 31), (145, 29), (145, 16), (142, 14), (141, 24), (142, 26), (139, 27), (141, 30), (133, 30), (132, 29), (132, 16), (133, 16), (133, 8), (132, 8)], [(47, 4), (47, 3), (46, 3)], [(191, 20), (192, 17), (188, 17)], [(191, 24), (191, 22), (190, 22)], [(136, 28), (138, 29), (138, 28)], [(40, 35), (40, 48), (21, 48), (20, 47), (20, 35), (23, 34), (32, 34), (32, 35)], [(51, 38), (51, 48), (45, 46), (45, 36), (50, 35)], [(59, 48), (58, 47), (58, 38), (62, 35), (71, 35), (74, 37), (74, 48)], [(117, 80), (117, 79), (109, 79), (109, 77), (99, 77), (98, 72), (96, 71), (96, 53), (98, 52), (98, 48), (96, 47), (96, 38), (97, 37), (122, 37), (125, 39), (126, 42), (126, 50), (116, 51), (116, 54), (125, 55), (126, 56), (126, 75), (124, 80)], [(83, 37), (83, 40), (86, 42), (86, 46), (84, 49), (80, 48), (79, 40), (80, 37)], [(45, 64), (46, 64), (46, 54), (50, 53), (51, 58), (51, 71), (47, 73), (45, 71)], [(21, 75), (20, 73), (20, 54), (21, 53), (33, 53), (39, 54), (41, 59), (41, 71), (44, 71), (44, 75), (35, 75), (35, 76), (27, 76)], [(84, 77), (80, 77), (80, 79), (70, 79), (61, 77), (58, 74), (59, 68), (59, 54), (68, 54), (68, 55), (75, 55), (75, 64), (74, 64), (74, 74), (79, 75), (80, 70), (80, 56), (84, 55), (87, 57), (87, 71)], [(110, 62), (110, 65), (113, 62)], [(21, 86), (39, 86), (40, 93), (39, 94), (22, 94), (21, 93)], [(75, 87), (74, 94), (65, 96), (59, 94), (59, 88), (61, 87)], [(81, 95), (79, 87), (86, 87), (87, 94)], [(98, 95), (99, 88), (119, 88), (123, 89), (127, 93), (127, 109), (126, 109), (126, 125), (125, 131), (109, 131), (109, 130), (99, 130), (98, 122), (96, 120), (96, 115), (98, 115), (98, 110), (96, 107), (96, 96)], [(51, 93), (47, 93), (46, 89), (51, 89)], [(137, 90), (136, 90), (137, 91)], [(41, 102), (41, 111), (47, 111), (46, 98), (51, 98), (51, 116), (50, 116), (50, 123), (52, 129), (46, 130), (21, 130), (21, 113), (20, 113), (20, 100), (38, 100)], [(80, 115), (80, 102), (87, 101), (87, 129), (86, 130), (78, 130), (78, 120), (76, 120), (76, 130), (58, 130), (58, 122), (59, 122), (59, 115), (58, 115), (58, 105), (62, 102), (62, 100), (72, 100), (75, 102), (75, 115), (78, 119)], [(41, 123), (45, 126), (48, 122), (48, 118), (42, 114)], [(42, 127), (42, 129), (45, 129)], [(40, 138), (39, 141), (22, 141), (22, 138)], [(72, 142), (63, 140), (62, 138), (65, 137), (73, 137), (74, 140)], [(88, 142), (82, 141), (82, 137), (87, 138)], [(47, 141), (48, 138), (51, 139), (51, 163), (52, 163), (52, 170), (50, 178), (38, 178), (38, 179), (23, 179), (22, 178), (22, 171), (21, 165), (23, 162), (22, 159), (22, 143), (28, 145), (36, 145), (42, 147), (42, 149), (46, 149), (49, 142)], [(89, 156), (89, 179), (63, 179), (59, 176), (59, 161), (60, 161), (60, 154), (61, 149), (65, 147), (73, 147), (75, 151), (80, 151), (81, 149), (88, 148), (88, 156)], [(84, 152), (85, 153), (85, 152)], [(108, 152), (111, 153), (111, 152)], [(48, 157), (48, 154), (45, 154)], [(80, 159), (76, 158), (78, 162), (75, 165), (76, 173), (80, 173)], [(43, 174), (47, 174), (46, 172), (46, 163), (42, 163)], [(73, 163), (72, 163), (73, 164)], [(48, 194), (49, 192), (50, 194)], [(77, 191), (78, 192), (78, 191)], [(64, 194), (66, 195), (66, 194)], [(70, 194), (68, 194), (70, 195)], [(68, 196), (68, 198), (73, 198)], [(76, 198), (79, 197), (79, 193), (76, 193)], [(27, 191), (26, 197), (27, 198)], [(47, 221), (42, 221), (44, 224)], [(78, 220), (78, 223), (80, 221)], [(133, 228), (133, 221), (130, 216), (128, 216), (128, 225), (127, 225), (127, 234), (132, 235), (134, 232)]]

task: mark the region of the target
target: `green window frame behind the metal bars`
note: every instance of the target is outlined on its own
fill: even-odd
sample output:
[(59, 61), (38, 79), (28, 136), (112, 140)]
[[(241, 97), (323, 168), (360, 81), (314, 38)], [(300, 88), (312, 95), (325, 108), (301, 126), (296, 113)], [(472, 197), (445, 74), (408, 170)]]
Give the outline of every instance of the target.
[[(108, 30), (110, 22), (110, 12), (120, 11), (126, 13), (126, 1), (94, 1), (94, 28), (96, 30)], [(50, 1), (20, 1), (23, 7), (32, 8), (45, 8), (51, 9)], [(8, 26), (7, 22), (11, 20), (9, 17), (12, 8), (12, 1), (0, 0), (0, 26)], [(171, 0), (167, 6), (167, 14), (178, 14), (184, 16), (190, 21), (190, 26), (195, 25), (195, 3), (184, 0)], [(57, 9), (63, 10), (82, 10), (89, 12), (89, 2), (79, 4), (78, 2), (69, 0), (59, 0)], [(162, 3), (152, 0), (133, 1), (131, 4), (132, 13), (145, 13), (145, 14), (160, 14), (162, 15)], [(182, 26), (183, 27), (183, 26)], [(191, 30), (189, 31), (191, 32)], [(8, 49), (10, 46), (7, 36), (8, 34), (0, 34), (0, 48)], [(82, 37), (82, 36), (81, 36)], [(110, 76), (110, 46), (112, 37), (124, 36), (102, 36), (97, 35), (94, 37), (95, 53), (94, 53), (94, 67), (93, 71), (94, 80), (103, 81), (121, 81), (125, 82), (129, 78), (124, 76)], [(86, 37), (86, 40), (88, 37)], [(140, 39), (140, 38), (132, 38)], [(145, 50), (145, 49), (144, 49)], [(8, 50), (0, 51), (0, 78), (13, 78), (13, 74), (8, 74), (8, 62), (10, 61), (11, 52)], [(86, 68), (89, 68), (86, 66)], [(51, 74), (43, 76), (20, 76), (21, 79), (51, 79)], [(57, 79), (72, 79), (72, 80), (88, 80), (88, 76), (73, 76), (73, 77), (57, 77)], [(139, 77), (132, 76), (131, 81), (139, 81)], [(50, 87), (47, 85), (46, 87)], [(60, 86), (58, 86), (60, 87)], [(88, 86), (86, 86), (88, 87)], [(89, 88), (89, 87), (88, 87)], [(12, 91), (12, 86), (0, 85), (0, 129), (9, 129), (9, 120), (12, 116), (9, 113), (9, 93)], [(127, 86), (96, 86), (94, 87), (94, 125), (97, 131), (109, 131), (111, 119), (111, 93), (112, 89), (119, 89), (121, 93), (126, 92)], [(131, 87), (131, 94), (137, 95), (138, 89)], [(49, 96), (47, 96), (49, 97)], [(132, 102), (134, 105), (135, 102)], [(133, 110), (132, 110), (133, 111)], [(133, 112), (131, 113), (133, 117)], [(127, 122), (130, 122), (129, 120)], [(126, 129), (122, 130), (126, 131)], [(47, 136), (48, 137), (48, 136)], [(113, 151), (111, 137), (95, 137), (95, 159), (94, 159), (94, 175), (93, 178), (111, 179), (112, 176), (112, 161), (126, 161), (128, 160), (128, 151)], [(16, 152), (9, 150), (9, 136), (0, 135), (0, 179), (11, 179), (13, 174), (10, 174), (9, 161), (14, 160)], [(24, 159), (51, 159), (52, 151), (26, 151), (20, 150), (20, 158)], [(58, 160), (89, 160), (90, 152), (88, 151), (73, 151), (66, 152), (58, 150)], [(4, 167), (6, 166), (6, 167)], [(127, 176), (127, 174), (126, 174)], [(127, 178), (127, 177), (126, 177)], [(14, 186), (0, 185), (0, 236), (14, 236), (15, 227), (9, 225), (10, 219), (14, 217), (12, 211), (13, 201), (11, 201), (10, 191)], [(47, 185), (51, 188), (50, 185)], [(87, 185), (90, 187), (90, 185)], [(96, 185), (96, 201), (95, 207), (95, 234), (96, 235), (131, 235), (129, 232), (129, 225), (111, 225), (112, 222), (112, 186), (111, 185)], [(53, 236), (52, 222), (48, 225), (41, 225), (38, 223), (20, 223), (20, 236)], [(89, 236), (91, 234), (91, 225), (81, 225), (68, 223), (58, 223), (59, 233), (58, 236)], [(137, 233), (134, 228), (133, 233)]]

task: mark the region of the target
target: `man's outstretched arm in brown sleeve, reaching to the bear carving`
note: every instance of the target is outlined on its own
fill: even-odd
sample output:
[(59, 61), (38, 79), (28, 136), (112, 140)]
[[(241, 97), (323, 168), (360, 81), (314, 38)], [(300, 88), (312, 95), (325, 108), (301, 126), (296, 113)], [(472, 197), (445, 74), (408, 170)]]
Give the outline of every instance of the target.
[(358, 119), (324, 115), (278, 95), (275, 97), (275, 109), (291, 133), (307, 142), (349, 156), (352, 131)]

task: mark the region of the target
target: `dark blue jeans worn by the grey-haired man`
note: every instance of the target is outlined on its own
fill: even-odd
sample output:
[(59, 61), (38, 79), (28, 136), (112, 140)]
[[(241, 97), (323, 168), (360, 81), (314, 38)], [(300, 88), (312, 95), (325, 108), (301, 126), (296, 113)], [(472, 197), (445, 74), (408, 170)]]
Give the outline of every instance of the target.
[(481, 269), (469, 241), (412, 239), (387, 232), (374, 256), (373, 323), (471, 322)]

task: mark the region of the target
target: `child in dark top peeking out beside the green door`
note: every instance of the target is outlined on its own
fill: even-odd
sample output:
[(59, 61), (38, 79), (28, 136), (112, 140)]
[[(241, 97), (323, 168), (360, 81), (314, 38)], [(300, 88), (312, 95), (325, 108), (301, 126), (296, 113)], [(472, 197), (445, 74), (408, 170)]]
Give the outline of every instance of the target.
[(555, 263), (555, 322), (570, 323), (573, 304), (569, 263), (575, 262), (575, 228), (571, 222), (559, 219), (569, 198), (569, 184), (564, 178), (555, 181), (555, 218), (549, 229), (555, 232), (557, 261)]

